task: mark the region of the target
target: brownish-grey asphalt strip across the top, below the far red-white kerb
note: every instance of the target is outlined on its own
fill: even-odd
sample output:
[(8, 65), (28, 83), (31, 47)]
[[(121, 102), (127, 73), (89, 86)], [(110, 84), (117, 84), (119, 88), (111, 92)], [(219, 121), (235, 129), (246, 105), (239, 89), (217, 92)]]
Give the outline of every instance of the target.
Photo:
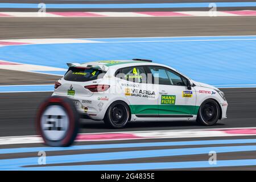
[(0, 18), (0, 39), (255, 35), (255, 30), (256, 16)]

